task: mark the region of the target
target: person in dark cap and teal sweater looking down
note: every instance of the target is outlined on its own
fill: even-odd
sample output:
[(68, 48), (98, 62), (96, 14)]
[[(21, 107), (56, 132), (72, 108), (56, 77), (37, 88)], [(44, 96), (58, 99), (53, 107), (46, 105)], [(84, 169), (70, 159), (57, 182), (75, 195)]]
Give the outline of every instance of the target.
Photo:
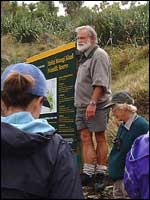
[(144, 117), (137, 114), (134, 99), (126, 91), (115, 93), (111, 103), (105, 107), (111, 107), (112, 114), (121, 122), (109, 154), (108, 172), (114, 181), (114, 199), (126, 199), (129, 198), (123, 182), (126, 155), (134, 140), (138, 136), (147, 133), (149, 123)]

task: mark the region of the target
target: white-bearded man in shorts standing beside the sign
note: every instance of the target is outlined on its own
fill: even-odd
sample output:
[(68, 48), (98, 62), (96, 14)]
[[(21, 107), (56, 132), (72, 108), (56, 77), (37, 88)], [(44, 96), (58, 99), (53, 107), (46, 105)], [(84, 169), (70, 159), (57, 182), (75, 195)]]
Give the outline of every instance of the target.
[[(108, 143), (105, 130), (111, 100), (111, 62), (97, 45), (97, 33), (91, 26), (76, 28), (77, 49), (82, 53), (75, 83), (76, 126), (82, 144), (82, 185), (93, 181), (95, 174), (107, 171)], [(95, 133), (96, 148), (93, 144)]]

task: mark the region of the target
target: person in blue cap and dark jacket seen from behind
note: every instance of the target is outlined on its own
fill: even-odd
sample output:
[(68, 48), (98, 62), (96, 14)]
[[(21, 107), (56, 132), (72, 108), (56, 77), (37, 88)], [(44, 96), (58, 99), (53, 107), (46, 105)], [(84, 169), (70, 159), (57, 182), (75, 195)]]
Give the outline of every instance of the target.
[[(79, 170), (69, 144), (45, 119), (46, 79), (18, 63), (1, 76), (2, 199), (82, 199)], [(69, 189), (68, 189), (69, 188)]]

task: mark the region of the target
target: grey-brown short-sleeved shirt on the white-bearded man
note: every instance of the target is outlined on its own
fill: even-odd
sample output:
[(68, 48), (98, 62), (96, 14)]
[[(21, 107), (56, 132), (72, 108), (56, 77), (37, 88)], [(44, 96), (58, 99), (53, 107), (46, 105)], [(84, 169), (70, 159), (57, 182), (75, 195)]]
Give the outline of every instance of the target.
[[(84, 55), (88, 57), (94, 47), (89, 48)], [(108, 54), (98, 47), (91, 58), (79, 64), (75, 83), (75, 107), (86, 107), (89, 104), (94, 86), (102, 86), (105, 91), (97, 102), (98, 107), (108, 103), (111, 98), (110, 83), (111, 62)]]

